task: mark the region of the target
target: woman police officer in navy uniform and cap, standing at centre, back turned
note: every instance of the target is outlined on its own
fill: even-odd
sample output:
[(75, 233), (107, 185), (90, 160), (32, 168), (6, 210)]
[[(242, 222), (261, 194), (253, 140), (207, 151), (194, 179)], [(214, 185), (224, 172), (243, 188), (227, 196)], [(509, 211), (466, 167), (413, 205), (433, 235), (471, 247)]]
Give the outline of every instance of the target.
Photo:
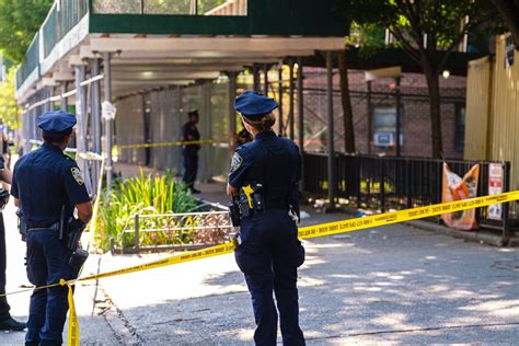
[(241, 244), (235, 258), (252, 296), (256, 345), (275, 345), (277, 310), (284, 345), (304, 345), (299, 327), (297, 268), (304, 262), (298, 240), (298, 183), (301, 160), (298, 147), (277, 137), (272, 112), (278, 104), (245, 91), (234, 102), (252, 142), (237, 149), (231, 162), (228, 195), (240, 196)]

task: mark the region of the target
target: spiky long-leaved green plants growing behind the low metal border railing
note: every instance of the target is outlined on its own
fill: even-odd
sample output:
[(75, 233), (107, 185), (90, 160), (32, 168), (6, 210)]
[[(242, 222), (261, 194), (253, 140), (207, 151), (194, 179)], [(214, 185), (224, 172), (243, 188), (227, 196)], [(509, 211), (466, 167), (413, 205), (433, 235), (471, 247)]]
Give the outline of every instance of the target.
[[(140, 175), (119, 181), (114, 184), (111, 193), (104, 192), (100, 208), (100, 224), (97, 224), (97, 245), (103, 250), (109, 249), (109, 241), (114, 239), (117, 245), (129, 245), (131, 237), (124, 237), (125, 229), (132, 229), (135, 215), (157, 215), (171, 212), (188, 212), (197, 208), (197, 200), (191, 191), (182, 183), (175, 181), (172, 173), (164, 175)], [(141, 228), (165, 227), (158, 224), (161, 220), (150, 219)], [(129, 234), (128, 234), (129, 235)], [(157, 237), (157, 234), (153, 234)], [(160, 237), (160, 235), (159, 235)], [(149, 240), (157, 241), (157, 239)], [(188, 242), (178, 235), (173, 242)], [(146, 243), (146, 237), (145, 242)]]

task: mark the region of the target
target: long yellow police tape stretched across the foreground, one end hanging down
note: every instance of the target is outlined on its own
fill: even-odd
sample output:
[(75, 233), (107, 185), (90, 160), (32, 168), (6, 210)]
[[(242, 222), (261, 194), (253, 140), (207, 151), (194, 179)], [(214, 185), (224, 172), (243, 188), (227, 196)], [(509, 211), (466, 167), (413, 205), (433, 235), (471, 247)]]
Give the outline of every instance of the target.
[[(411, 220), (423, 219), (432, 216), (439, 216), (442, 214), (462, 211), (473, 208), (481, 208), (487, 207), (494, 204), (501, 204), (501, 203), (509, 203), (514, 200), (519, 200), (519, 191), (514, 191), (509, 193), (503, 193), (498, 195), (492, 196), (484, 196), (484, 197), (475, 197), (469, 198), (464, 200), (457, 200), (457, 201), (449, 201), (449, 203), (441, 203), (436, 205), (429, 205), (425, 207), (417, 207), (412, 209), (405, 209), (394, 212), (387, 212), (380, 215), (372, 215), (362, 218), (356, 219), (348, 219), (348, 220), (341, 220), (327, 223), (321, 223), (315, 226), (308, 226), (301, 227), (298, 231), (299, 239), (311, 239), (318, 237), (326, 237), (326, 235), (334, 235), (339, 233), (347, 233), (354, 231), (360, 231), (368, 228), (387, 226), (392, 223), (400, 223)], [(36, 287), (34, 289), (47, 289), (50, 287), (56, 286), (67, 286), (69, 289), (68, 300), (69, 300), (69, 330), (68, 330), (68, 345), (71, 346), (79, 346), (79, 323), (78, 318), (76, 314), (73, 297), (72, 297), (72, 285), (79, 281), (89, 281), (89, 280), (96, 280), (100, 278), (107, 278), (113, 276), (119, 276), (130, 273), (137, 273), (142, 270), (149, 270), (153, 268), (170, 266), (174, 264), (197, 261), (201, 258), (208, 258), (214, 256), (219, 256), (223, 254), (228, 254), (234, 251), (235, 245), (231, 242), (219, 244), (210, 247), (206, 247), (198, 251), (182, 253), (173, 256), (169, 256), (166, 258), (126, 267), (113, 272), (101, 273), (96, 275), (85, 276), (74, 280), (60, 280), (58, 284), (45, 286), (45, 287)], [(14, 295), (27, 290), (33, 289), (25, 289), (16, 292), (7, 293)], [(2, 297), (2, 296), (0, 296)]]

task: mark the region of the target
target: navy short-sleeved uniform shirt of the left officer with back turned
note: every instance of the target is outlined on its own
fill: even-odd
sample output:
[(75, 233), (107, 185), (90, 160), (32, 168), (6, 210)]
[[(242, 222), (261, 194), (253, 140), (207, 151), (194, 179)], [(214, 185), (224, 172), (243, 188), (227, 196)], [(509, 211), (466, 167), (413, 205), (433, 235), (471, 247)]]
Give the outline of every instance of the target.
[(59, 221), (64, 206), (66, 216), (70, 217), (74, 205), (90, 201), (76, 161), (50, 143), (16, 162), (11, 195), (21, 201), (22, 215), (33, 228)]

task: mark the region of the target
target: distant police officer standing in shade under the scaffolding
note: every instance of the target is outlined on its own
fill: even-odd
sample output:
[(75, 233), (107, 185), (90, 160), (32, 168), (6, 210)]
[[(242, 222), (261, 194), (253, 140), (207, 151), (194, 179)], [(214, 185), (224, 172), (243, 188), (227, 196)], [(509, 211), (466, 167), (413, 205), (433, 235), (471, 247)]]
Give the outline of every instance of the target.
[[(198, 111), (194, 109), (187, 113), (189, 120), (182, 126), (182, 140), (183, 141), (195, 141), (200, 140), (200, 134), (196, 128), (198, 124), (199, 115)], [(195, 188), (196, 174), (198, 172), (198, 151), (200, 145), (193, 143), (184, 146), (182, 155), (184, 158), (184, 177), (183, 181), (189, 187), (194, 194), (198, 194), (199, 191)]]

